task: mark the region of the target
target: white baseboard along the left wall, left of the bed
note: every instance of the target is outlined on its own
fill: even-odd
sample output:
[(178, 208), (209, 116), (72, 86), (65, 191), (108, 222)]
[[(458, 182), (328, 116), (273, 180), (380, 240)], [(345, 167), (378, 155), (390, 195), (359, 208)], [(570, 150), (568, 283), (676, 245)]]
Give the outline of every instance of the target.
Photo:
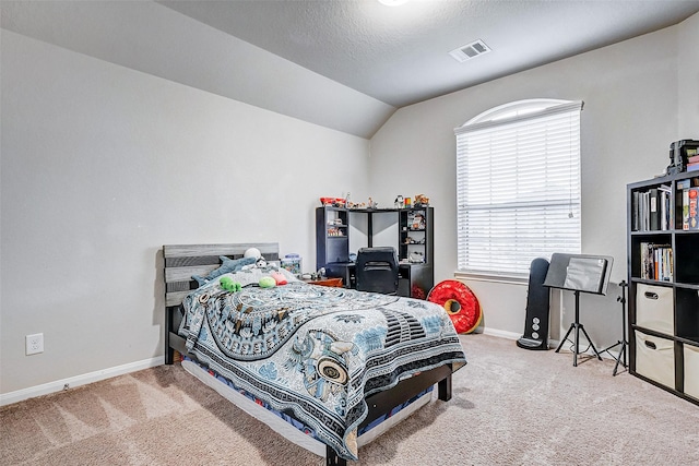
[(0, 406), (11, 405), (24, 399), (48, 395), (51, 393), (61, 392), (63, 390), (74, 389), (76, 386), (86, 385), (88, 383), (98, 382), (100, 380), (111, 379), (112, 377), (154, 368), (164, 363), (165, 357), (158, 356), (156, 358), (143, 359), (141, 361), (129, 362), (128, 365), (117, 366), (114, 368), (103, 369), (82, 375), (57, 380), (55, 382), (44, 383), (42, 385), (29, 386), (28, 389), (22, 389), (9, 393), (0, 393)]

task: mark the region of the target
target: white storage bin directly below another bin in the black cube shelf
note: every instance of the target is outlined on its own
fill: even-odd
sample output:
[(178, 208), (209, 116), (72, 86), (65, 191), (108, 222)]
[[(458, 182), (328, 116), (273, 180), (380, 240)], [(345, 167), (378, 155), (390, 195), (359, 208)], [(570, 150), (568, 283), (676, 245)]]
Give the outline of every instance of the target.
[(675, 390), (675, 343), (636, 331), (636, 372)]

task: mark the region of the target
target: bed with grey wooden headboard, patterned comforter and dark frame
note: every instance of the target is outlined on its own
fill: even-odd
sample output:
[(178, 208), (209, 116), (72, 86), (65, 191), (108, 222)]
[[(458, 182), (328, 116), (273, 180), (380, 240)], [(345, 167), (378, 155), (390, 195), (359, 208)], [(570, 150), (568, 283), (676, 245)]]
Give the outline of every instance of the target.
[[(242, 259), (250, 248), (265, 264)], [(297, 280), (276, 243), (164, 246), (163, 256), (165, 362), (179, 353), (188, 372), (328, 465), (357, 459), (434, 385), (449, 401), (466, 363), (441, 307)], [(260, 287), (270, 275), (287, 283)]]

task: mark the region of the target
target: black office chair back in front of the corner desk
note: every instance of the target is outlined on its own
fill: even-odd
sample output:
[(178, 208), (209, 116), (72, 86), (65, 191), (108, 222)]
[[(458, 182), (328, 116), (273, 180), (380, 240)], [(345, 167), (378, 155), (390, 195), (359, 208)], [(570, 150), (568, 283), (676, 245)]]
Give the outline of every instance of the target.
[(362, 248), (355, 267), (356, 288), (383, 295), (398, 294), (398, 255), (391, 247)]

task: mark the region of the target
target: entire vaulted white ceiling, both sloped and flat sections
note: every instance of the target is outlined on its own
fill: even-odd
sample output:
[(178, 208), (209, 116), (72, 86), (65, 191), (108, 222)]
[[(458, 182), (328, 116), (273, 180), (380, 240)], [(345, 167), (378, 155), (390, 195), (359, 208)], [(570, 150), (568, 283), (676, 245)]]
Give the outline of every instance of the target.
[[(370, 138), (396, 108), (677, 24), (699, 0), (3, 0), (0, 8), (5, 29)], [(490, 51), (463, 62), (450, 56), (474, 40)]]

